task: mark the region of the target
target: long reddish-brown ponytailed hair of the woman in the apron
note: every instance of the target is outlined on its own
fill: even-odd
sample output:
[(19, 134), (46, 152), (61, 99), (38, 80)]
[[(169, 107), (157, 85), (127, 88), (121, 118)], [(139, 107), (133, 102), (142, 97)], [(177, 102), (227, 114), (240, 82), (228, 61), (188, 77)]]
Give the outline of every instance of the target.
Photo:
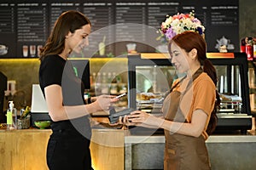
[[(193, 48), (197, 50), (197, 59), (203, 65), (203, 71), (207, 73), (209, 77), (211, 77), (212, 82), (214, 82), (215, 86), (217, 86), (218, 77), (215, 67), (212, 65), (212, 62), (207, 59), (207, 43), (201, 35), (194, 31), (184, 31), (181, 34), (178, 34), (175, 37), (172, 37), (172, 40), (169, 42), (168, 48), (169, 52), (171, 52), (171, 43), (175, 42), (177, 46), (183, 48), (187, 53), (191, 51)], [(216, 99), (214, 109), (211, 114), (210, 122), (208, 123), (207, 133), (212, 134), (215, 130), (215, 127), (218, 122), (218, 117), (216, 116), (216, 112), (218, 111), (218, 107), (220, 105), (220, 98), (218, 95), (218, 91), (215, 91)]]

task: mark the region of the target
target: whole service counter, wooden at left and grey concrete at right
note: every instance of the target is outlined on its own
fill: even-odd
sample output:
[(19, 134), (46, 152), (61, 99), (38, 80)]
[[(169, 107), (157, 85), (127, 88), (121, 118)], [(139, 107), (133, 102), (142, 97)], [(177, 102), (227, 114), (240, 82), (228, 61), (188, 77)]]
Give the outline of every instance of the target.
[[(46, 146), (51, 130), (0, 130), (3, 170), (47, 170)], [(90, 144), (95, 170), (163, 169), (165, 137), (137, 136), (123, 129), (93, 129)], [(207, 139), (212, 170), (256, 167), (255, 131), (214, 134)]]

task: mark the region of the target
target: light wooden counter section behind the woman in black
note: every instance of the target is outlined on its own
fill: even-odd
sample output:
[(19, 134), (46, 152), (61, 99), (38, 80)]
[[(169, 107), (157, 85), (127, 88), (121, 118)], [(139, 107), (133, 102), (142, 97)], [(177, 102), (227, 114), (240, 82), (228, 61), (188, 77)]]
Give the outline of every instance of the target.
[[(2, 170), (47, 170), (46, 146), (50, 129), (0, 130)], [(93, 129), (90, 144), (95, 170), (123, 170), (124, 132)]]

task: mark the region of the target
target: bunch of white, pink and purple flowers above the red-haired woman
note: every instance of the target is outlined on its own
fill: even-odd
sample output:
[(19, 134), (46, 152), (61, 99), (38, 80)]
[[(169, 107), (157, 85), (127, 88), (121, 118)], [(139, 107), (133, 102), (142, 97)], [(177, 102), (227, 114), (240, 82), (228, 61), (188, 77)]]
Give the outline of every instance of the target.
[(195, 14), (175, 14), (173, 16), (166, 15), (166, 21), (162, 22), (160, 32), (162, 37), (171, 40), (172, 37), (183, 31), (195, 31), (202, 35), (205, 27), (201, 25), (201, 21), (195, 18)]

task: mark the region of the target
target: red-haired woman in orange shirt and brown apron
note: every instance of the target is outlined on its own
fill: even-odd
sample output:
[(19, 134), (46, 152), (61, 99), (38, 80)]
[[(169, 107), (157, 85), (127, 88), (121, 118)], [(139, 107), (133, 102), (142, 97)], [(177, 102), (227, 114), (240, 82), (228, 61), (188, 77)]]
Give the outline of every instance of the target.
[[(210, 169), (205, 140), (217, 122), (216, 71), (207, 59), (203, 37), (184, 31), (169, 43), (172, 65), (185, 74), (164, 100), (164, 118), (143, 111), (125, 117), (125, 124), (165, 129), (165, 170)], [(203, 67), (201, 68), (201, 65)]]

